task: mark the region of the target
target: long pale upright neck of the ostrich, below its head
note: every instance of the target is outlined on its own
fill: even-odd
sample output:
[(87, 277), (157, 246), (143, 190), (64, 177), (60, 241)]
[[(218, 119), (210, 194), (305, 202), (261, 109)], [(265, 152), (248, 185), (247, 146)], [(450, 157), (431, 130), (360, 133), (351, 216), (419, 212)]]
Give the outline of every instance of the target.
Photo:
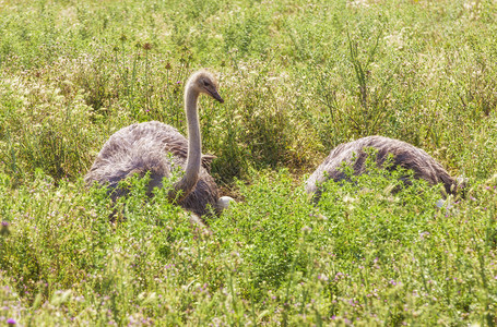
[(188, 83), (185, 90), (185, 111), (188, 125), (187, 167), (185, 169), (185, 175), (175, 184), (174, 194), (169, 194), (169, 196), (176, 197), (178, 192), (181, 191), (179, 199), (191, 192), (199, 178), (202, 159), (202, 141), (200, 137), (199, 116), (197, 111), (198, 99), (199, 93), (193, 88), (192, 83)]

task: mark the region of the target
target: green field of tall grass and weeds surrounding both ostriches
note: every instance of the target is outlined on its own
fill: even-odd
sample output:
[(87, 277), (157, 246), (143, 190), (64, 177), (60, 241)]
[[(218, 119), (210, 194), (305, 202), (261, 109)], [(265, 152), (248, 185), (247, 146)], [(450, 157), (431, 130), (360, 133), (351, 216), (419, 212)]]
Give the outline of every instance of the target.
[[(497, 2), (0, 1), (0, 325), (497, 325)], [(83, 177), (209, 68), (203, 152), (233, 208), (192, 227), (144, 181), (108, 221)], [(306, 177), (340, 143), (425, 149), (465, 197), (379, 171)]]

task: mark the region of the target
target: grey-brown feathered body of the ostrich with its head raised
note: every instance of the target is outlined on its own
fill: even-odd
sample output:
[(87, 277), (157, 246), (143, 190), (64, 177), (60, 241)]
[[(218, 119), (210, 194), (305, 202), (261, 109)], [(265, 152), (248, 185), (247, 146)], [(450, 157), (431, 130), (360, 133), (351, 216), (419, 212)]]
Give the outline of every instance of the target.
[[(119, 181), (138, 173), (150, 172), (147, 194), (163, 186), (163, 178), (170, 178), (175, 169), (185, 170), (188, 140), (175, 128), (157, 121), (135, 123), (113, 134), (104, 144), (95, 162), (85, 175), (85, 182), (106, 185), (113, 198), (125, 195)], [(194, 189), (179, 203), (184, 208), (202, 216), (208, 204), (215, 207), (217, 186), (209, 174), (213, 156), (202, 156), (202, 166)]]

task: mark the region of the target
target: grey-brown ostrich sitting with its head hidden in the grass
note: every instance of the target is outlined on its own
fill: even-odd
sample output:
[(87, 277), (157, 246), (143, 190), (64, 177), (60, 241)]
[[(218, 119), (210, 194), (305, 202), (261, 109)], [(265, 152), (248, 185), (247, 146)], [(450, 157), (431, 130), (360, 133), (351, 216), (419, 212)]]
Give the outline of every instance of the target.
[[(413, 170), (414, 178), (424, 179), (433, 185), (442, 183), (448, 194), (455, 194), (455, 180), (426, 152), (409, 143), (383, 136), (367, 136), (336, 146), (307, 180), (307, 193), (315, 194), (315, 198), (319, 199), (322, 192), (320, 187), (323, 182), (329, 179), (334, 181), (347, 179), (346, 174), (340, 169), (342, 162), (350, 165), (355, 174), (364, 173), (365, 161), (368, 156), (365, 148), (368, 147), (377, 150), (376, 162), (379, 167), (383, 165), (389, 155), (392, 155), (392, 169), (403, 167)], [(403, 181), (409, 183), (407, 180)]]

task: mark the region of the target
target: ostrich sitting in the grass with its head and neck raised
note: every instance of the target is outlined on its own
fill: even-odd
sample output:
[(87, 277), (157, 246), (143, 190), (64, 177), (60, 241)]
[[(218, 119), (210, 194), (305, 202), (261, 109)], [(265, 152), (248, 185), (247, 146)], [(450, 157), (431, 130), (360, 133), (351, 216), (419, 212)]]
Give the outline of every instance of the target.
[[(154, 187), (163, 186), (163, 179), (170, 178), (176, 169), (184, 170), (181, 179), (168, 193), (169, 201), (202, 217), (209, 213), (208, 205), (220, 213), (226, 208), (229, 197), (218, 198), (217, 185), (210, 175), (214, 156), (202, 155), (202, 145), (197, 110), (200, 94), (220, 101), (217, 83), (206, 70), (193, 73), (185, 87), (185, 112), (188, 140), (175, 128), (158, 121), (134, 123), (109, 137), (85, 175), (86, 184), (98, 183), (109, 189), (113, 199), (125, 195), (119, 181), (138, 174), (150, 173), (147, 195)], [(197, 217), (192, 217), (198, 222)]]

